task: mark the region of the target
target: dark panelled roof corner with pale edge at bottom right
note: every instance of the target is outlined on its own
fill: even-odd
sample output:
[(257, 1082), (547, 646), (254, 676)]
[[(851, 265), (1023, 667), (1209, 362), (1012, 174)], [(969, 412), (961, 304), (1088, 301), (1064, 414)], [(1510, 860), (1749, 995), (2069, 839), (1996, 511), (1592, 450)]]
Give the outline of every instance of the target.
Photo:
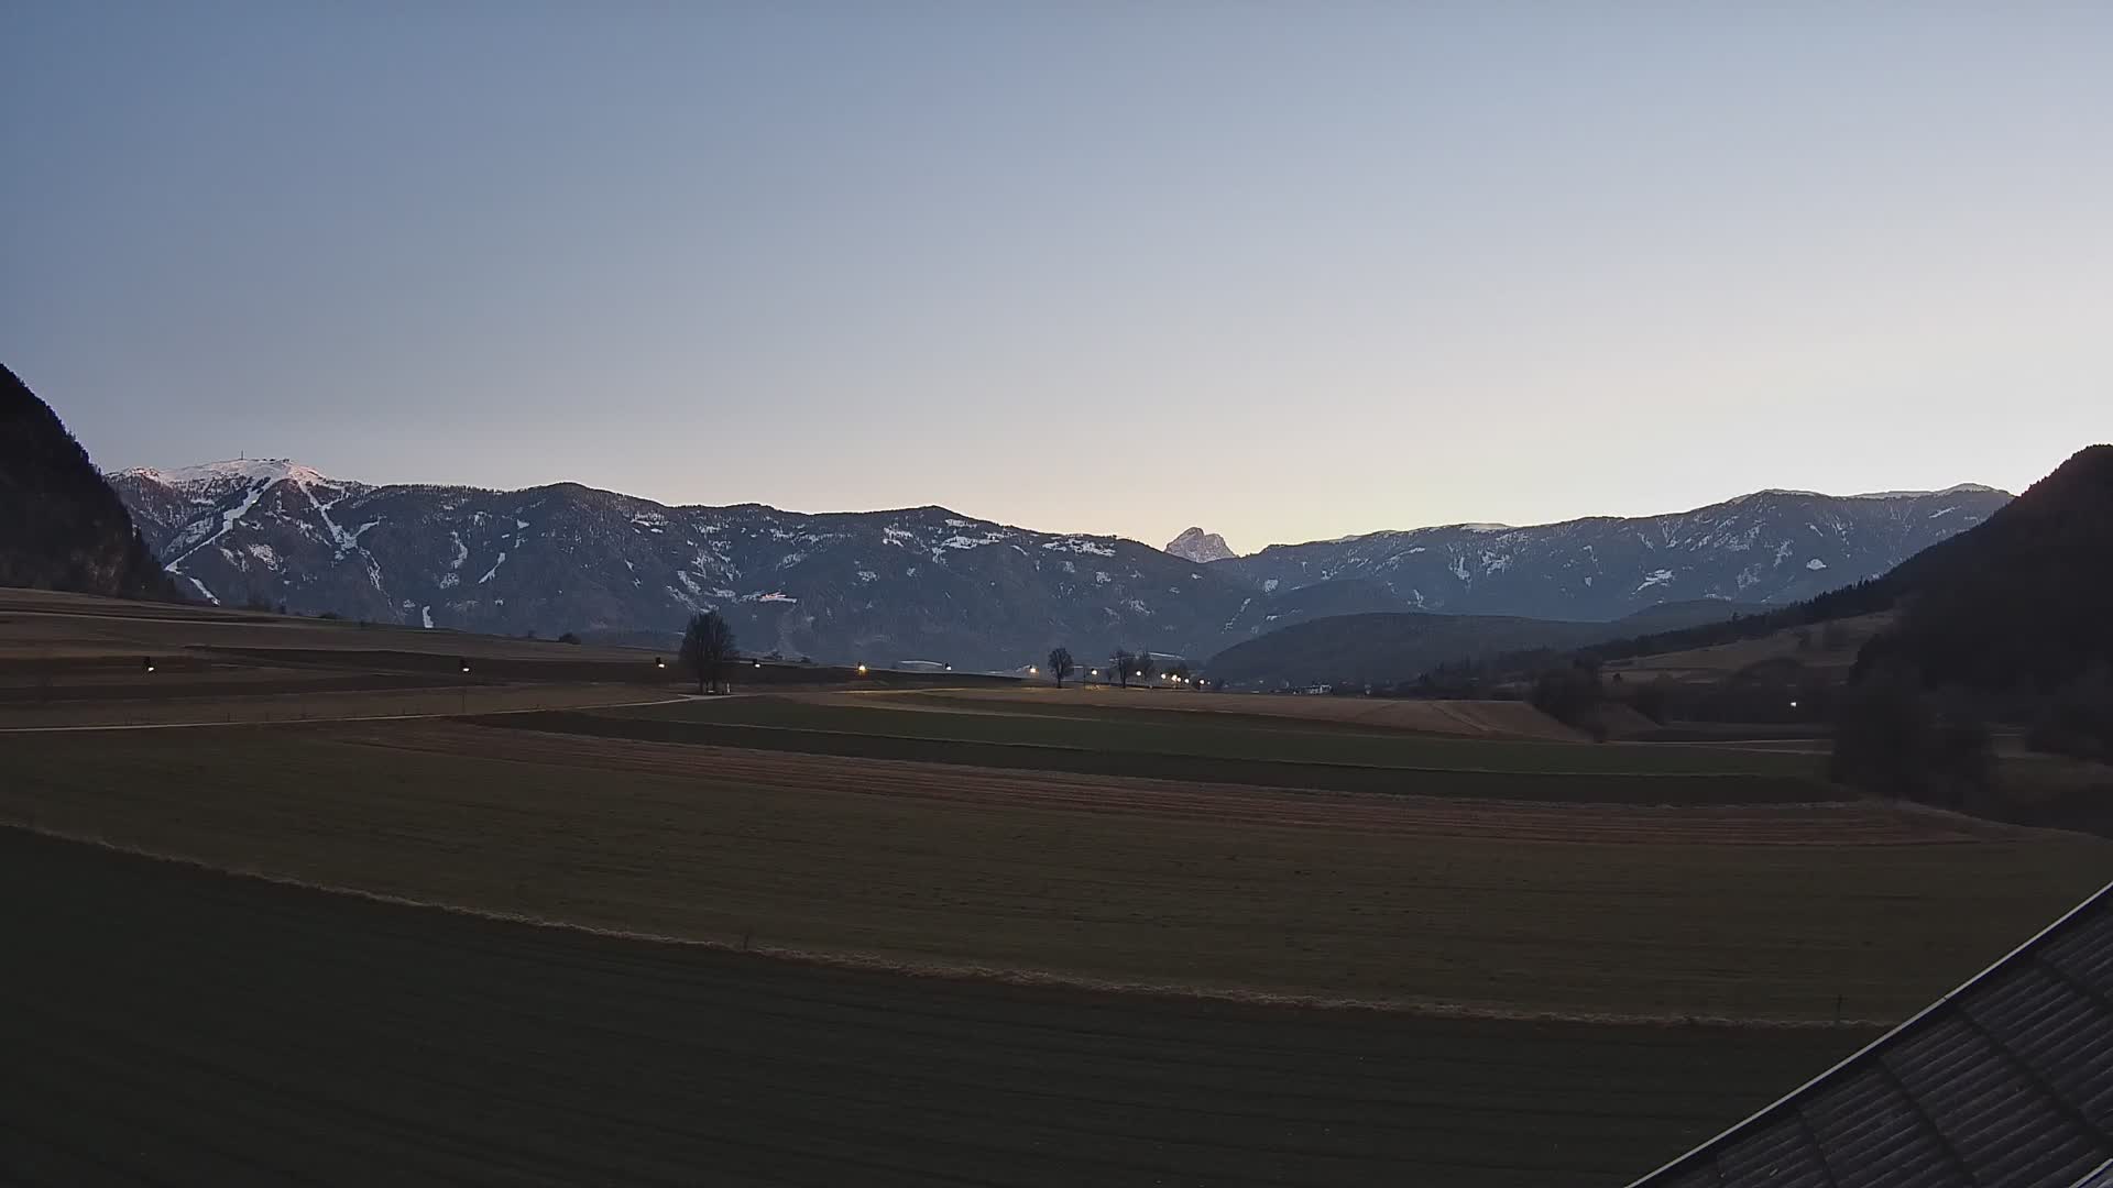
[(1633, 1188), (2113, 1188), (2113, 886)]

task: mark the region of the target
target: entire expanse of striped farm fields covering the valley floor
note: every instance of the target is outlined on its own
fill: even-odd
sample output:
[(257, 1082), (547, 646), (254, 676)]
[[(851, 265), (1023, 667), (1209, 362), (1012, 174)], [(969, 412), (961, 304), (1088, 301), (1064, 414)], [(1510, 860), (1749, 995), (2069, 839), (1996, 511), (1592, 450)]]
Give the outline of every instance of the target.
[(0, 725), (277, 725), (0, 734), (0, 1180), (1619, 1184), (2113, 877), (1519, 704), (615, 708), (672, 689), (34, 602)]

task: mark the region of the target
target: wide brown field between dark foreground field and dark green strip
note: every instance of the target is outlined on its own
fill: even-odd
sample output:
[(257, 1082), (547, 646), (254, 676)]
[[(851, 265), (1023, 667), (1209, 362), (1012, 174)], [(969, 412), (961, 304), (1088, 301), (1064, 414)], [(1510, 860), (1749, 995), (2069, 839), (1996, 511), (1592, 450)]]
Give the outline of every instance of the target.
[(1481, 1013), (1893, 1019), (2113, 846), (1887, 808), (1183, 786), (450, 723), (0, 738), (0, 818), (913, 968)]

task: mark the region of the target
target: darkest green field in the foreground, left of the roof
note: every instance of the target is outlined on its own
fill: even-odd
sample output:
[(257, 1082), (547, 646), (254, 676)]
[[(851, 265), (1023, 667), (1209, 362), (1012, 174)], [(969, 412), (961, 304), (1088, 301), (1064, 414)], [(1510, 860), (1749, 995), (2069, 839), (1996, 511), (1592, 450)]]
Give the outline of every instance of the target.
[(1862, 1032), (824, 970), (0, 829), (8, 1184), (1619, 1184)]

